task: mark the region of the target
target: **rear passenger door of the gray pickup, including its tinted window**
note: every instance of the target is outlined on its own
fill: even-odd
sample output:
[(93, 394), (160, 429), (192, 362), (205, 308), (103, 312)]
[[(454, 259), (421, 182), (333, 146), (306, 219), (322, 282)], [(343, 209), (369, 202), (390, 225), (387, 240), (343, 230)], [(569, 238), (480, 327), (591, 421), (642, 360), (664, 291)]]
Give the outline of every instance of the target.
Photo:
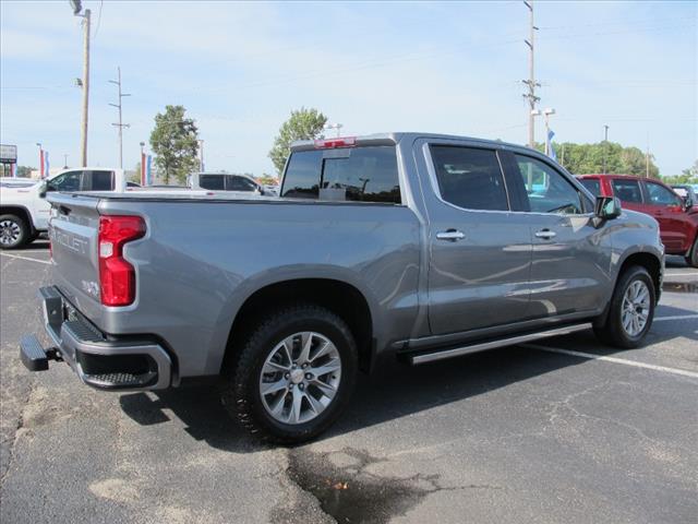
[(531, 237), (492, 147), (425, 145), (429, 322), (435, 335), (525, 320)]

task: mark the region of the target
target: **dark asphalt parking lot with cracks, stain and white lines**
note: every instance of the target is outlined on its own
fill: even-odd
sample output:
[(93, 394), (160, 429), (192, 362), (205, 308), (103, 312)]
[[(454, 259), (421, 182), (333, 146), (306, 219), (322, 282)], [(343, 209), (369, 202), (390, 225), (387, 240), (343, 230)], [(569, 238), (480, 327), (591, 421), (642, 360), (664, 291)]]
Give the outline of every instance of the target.
[(46, 242), (1, 264), (3, 523), (696, 523), (698, 270), (667, 260), (646, 347), (591, 333), (359, 381), (308, 445), (260, 445), (212, 389), (29, 373)]

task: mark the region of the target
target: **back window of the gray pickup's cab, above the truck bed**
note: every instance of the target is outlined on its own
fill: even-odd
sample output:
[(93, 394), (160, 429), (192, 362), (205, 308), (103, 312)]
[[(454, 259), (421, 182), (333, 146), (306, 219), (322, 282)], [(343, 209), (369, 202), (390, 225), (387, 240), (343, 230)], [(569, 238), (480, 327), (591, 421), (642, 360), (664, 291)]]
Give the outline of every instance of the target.
[(296, 152), (281, 196), (399, 204), (395, 146)]

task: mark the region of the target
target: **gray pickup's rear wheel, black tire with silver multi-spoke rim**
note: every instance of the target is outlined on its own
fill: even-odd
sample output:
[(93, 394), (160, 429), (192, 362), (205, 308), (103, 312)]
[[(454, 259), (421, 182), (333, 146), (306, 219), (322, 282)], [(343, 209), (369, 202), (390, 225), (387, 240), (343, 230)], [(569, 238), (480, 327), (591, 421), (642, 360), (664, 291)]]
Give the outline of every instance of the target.
[(261, 321), (230, 366), (228, 412), (252, 433), (299, 443), (325, 431), (349, 401), (357, 347), (346, 322), (314, 305)]

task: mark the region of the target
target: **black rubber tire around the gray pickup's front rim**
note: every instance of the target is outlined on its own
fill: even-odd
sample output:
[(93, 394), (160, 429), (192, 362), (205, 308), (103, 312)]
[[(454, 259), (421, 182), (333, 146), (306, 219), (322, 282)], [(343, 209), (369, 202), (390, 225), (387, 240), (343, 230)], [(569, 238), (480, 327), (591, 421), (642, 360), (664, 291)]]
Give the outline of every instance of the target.
[[(642, 282), (649, 290), (649, 314), (642, 330), (636, 335), (630, 335), (623, 327), (623, 299), (630, 285), (637, 281)], [(638, 347), (642, 344), (645, 336), (652, 326), (655, 305), (657, 290), (654, 288), (654, 281), (652, 281), (652, 277), (645, 267), (639, 265), (630, 266), (618, 277), (605, 322), (603, 324), (594, 324), (593, 331), (599, 340), (611, 346), (621, 349)]]

